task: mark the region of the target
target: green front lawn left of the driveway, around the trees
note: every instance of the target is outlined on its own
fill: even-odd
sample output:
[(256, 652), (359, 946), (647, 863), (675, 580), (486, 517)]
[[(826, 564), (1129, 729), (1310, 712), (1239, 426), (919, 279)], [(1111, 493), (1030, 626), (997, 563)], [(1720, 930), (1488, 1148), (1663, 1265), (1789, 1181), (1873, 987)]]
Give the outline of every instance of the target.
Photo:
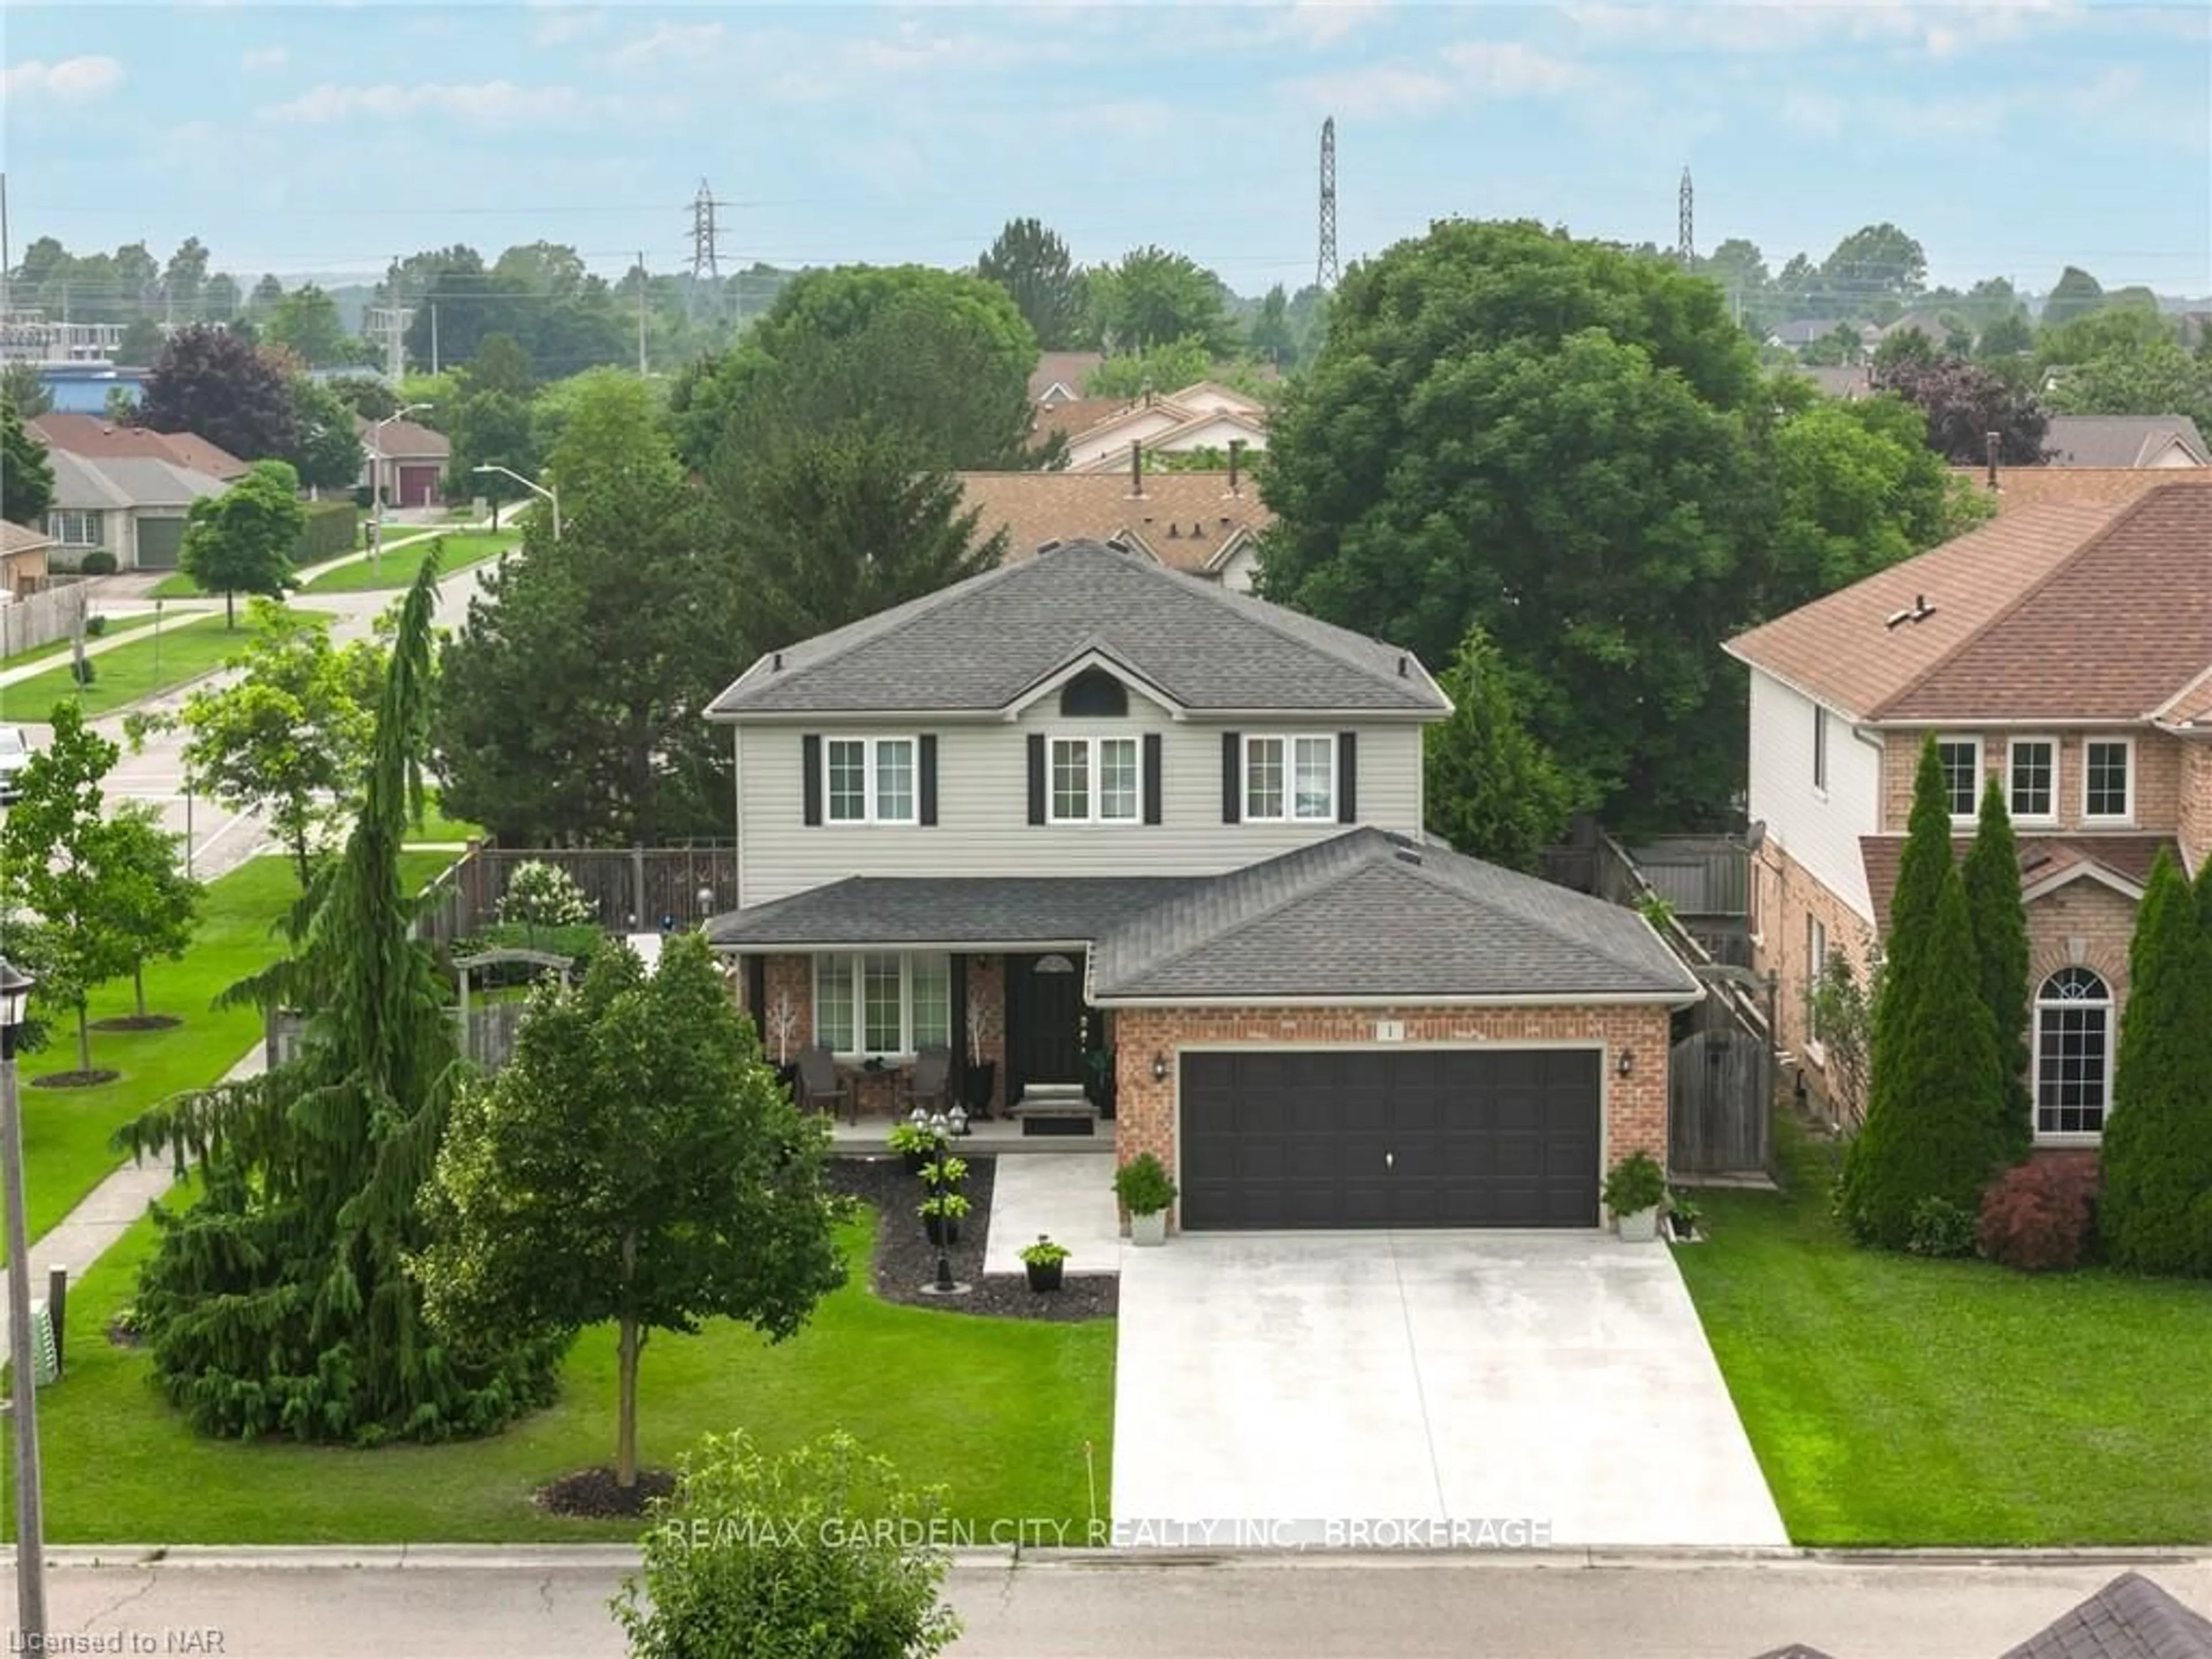
[[(611, 1329), (586, 1332), (575, 1345), (551, 1409), (491, 1440), (380, 1451), (204, 1440), (153, 1391), (146, 1354), (102, 1338), (131, 1298), (131, 1270), (153, 1237), (153, 1225), (139, 1221), (69, 1298), (69, 1376), (38, 1398), (49, 1540), (637, 1537), (637, 1522), (573, 1522), (531, 1504), (544, 1482), (613, 1462)], [(1091, 1515), (1088, 1442), (1104, 1517), (1113, 1321), (978, 1318), (876, 1301), (863, 1267), (872, 1239), (874, 1217), (847, 1230), (854, 1279), (781, 1347), (726, 1321), (699, 1336), (653, 1334), (639, 1378), (639, 1458), (675, 1464), (708, 1431), (743, 1427), (783, 1449), (845, 1427), (909, 1482), (947, 1484), (953, 1513), (980, 1526), (1040, 1517), (1079, 1526)]]

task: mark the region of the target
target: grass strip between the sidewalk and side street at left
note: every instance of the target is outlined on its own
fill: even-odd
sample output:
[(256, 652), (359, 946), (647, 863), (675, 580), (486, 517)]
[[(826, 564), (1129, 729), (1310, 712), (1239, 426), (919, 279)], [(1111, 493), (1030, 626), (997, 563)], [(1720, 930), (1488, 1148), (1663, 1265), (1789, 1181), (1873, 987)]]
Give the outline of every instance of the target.
[[(409, 852), (400, 860), (403, 880), (420, 889), (451, 856)], [(181, 962), (155, 962), (146, 969), (146, 1011), (175, 1015), (181, 1024), (166, 1031), (95, 1031), (93, 1066), (122, 1073), (111, 1084), (22, 1091), (31, 1239), (77, 1208), (122, 1164), (108, 1146), (117, 1128), (155, 1102), (221, 1079), (261, 1042), (261, 1015), (254, 1009), (215, 1011), (210, 1004), (221, 991), (276, 960), (283, 940), (274, 929), (296, 896), (299, 883), (288, 858), (252, 858), (210, 880), (192, 949)], [(77, 1066), (75, 1018), (55, 1009), (44, 1013), (51, 1035), (44, 1048), (22, 1057), (27, 1084)], [(93, 993), (93, 1020), (128, 1013), (137, 1013), (128, 980)]]

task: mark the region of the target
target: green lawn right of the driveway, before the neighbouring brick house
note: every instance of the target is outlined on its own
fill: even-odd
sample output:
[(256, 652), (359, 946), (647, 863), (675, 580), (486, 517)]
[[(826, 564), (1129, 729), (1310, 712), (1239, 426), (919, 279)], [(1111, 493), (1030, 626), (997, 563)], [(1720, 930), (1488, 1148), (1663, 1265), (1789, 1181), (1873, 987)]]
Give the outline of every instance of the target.
[(2212, 1285), (1856, 1250), (1781, 1128), (1790, 1190), (1699, 1194), (1674, 1261), (1792, 1540), (2212, 1537)]

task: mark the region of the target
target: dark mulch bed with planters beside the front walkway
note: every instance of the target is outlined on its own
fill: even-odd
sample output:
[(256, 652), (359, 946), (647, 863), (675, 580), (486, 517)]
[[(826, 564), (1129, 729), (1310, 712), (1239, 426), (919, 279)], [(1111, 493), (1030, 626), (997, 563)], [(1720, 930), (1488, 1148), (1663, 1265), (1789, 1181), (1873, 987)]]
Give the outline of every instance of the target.
[[(1037, 1152), (1035, 1157), (1048, 1155)], [(905, 1161), (896, 1157), (830, 1159), (830, 1188), (874, 1206), (883, 1217), (876, 1228), (876, 1259), (869, 1263), (876, 1294), (887, 1303), (953, 1314), (1113, 1318), (1121, 1307), (1121, 1279), (1117, 1274), (1068, 1274), (1060, 1281), (1060, 1290), (1035, 1292), (1029, 1287), (1029, 1274), (987, 1274), (982, 1270), (998, 1159), (969, 1157), (967, 1166), (969, 1212), (960, 1221), (960, 1243), (951, 1245), (947, 1254), (953, 1279), (971, 1290), (967, 1296), (933, 1296), (925, 1285), (936, 1283), (938, 1248), (929, 1243), (922, 1219), (914, 1212), (914, 1206), (922, 1201), (920, 1177), (907, 1175)]]

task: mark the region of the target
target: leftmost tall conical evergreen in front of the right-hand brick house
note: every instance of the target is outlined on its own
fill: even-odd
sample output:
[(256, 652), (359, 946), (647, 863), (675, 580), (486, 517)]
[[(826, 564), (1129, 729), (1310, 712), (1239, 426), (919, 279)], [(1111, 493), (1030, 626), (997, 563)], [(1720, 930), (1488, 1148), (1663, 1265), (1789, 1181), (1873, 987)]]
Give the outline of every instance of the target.
[(1951, 858), (1944, 776), (1929, 739), (1889, 900), (1867, 1121), (1843, 1161), (1851, 1232), (1902, 1250), (1924, 1199), (1973, 1217), (2006, 1157), (2002, 1106), (1997, 1022), (1982, 1000), (1973, 914)]

